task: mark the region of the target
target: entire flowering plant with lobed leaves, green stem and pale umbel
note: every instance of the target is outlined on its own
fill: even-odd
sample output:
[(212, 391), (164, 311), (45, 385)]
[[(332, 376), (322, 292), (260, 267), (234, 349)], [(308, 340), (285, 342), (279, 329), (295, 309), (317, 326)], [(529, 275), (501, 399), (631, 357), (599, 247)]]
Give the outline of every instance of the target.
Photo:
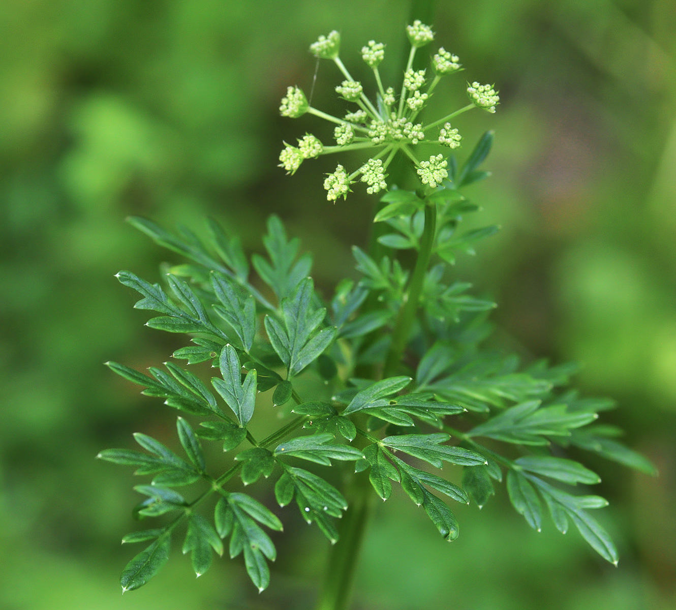
[[(385, 45), (369, 41), (362, 49), (377, 83), (372, 103), (343, 66), (339, 34), (331, 32), (310, 49), (335, 62), (345, 76), (336, 91), (356, 108), (342, 119), (329, 116), (297, 87), (289, 87), (280, 108), (284, 116), (313, 114), (337, 124), (335, 146), (307, 134), (296, 147), (285, 147), (280, 160), (289, 173), (323, 154), (377, 151), (354, 172), (339, 165), (324, 181), (330, 201), (345, 197), (358, 178), (368, 193), (385, 191), (374, 220), (392, 230), (377, 238), (387, 254), (355, 247), (358, 281), (345, 279), (333, 295), (320, 294), (308, 277), (312, 257), (299, 256), (299, 242), (288, 239), (276, 216), (263, 238), (267, 256), (250, 259), (256, 279), (239, 239), (217, 222), (209, 223), (210, 239), (201, 240), (187, 229), (174, 235), (150, 220), (130, 219), (190, 261), (170, 269), (166, 287), (128, 271), (117, 277), (143, 297), (137, 308), (160, 314), (149, 327), (189, 337), (172, 357), (191, 368), (169, 360), (166, 370), (151, 367), (145, 375), (107, 363), (143, 386), (143, 394), (182, 412), (176, 427), (184, 455), (142, 433), (135, 440), (143, 452), (99, 454), (136, 467), (137, 475), (153, 475), (151, 484), (135, 488), (146, 497), (134, 515), (158, 517), (160, 524), (124, 537), (123, 542), (149, 546), (122, 572), (123, 590), (155, 576), (179, 525), (186, 527), (183, 553), (191, 553), (197, 576), (209, 569), (212, 550), (224, 553), (223, 539), (229, 538), (230, 556), (243, 555), (251, 581), (258, 590), (266, 588), (268, 561), (277, 552), (264, 528), (282, 530), (284, 516), (262, 502), (261, 484), (255, 485), (268, 477), (280, 507), (295, 503), (303, 519), (337, 543), (318, 601), (321, 610), (347, 607), (372, 500), (387, 500), (393, 483), (452, 541), (459, 526), (447, 501), (481, 508), (505, 478), (514, 509), (531, 527), (539, 531), (549, 513), (560, 532), (575, 525), (597, 553), (617, 564), (612, 540), (589, 514), (606, 500), (560, 485), (586, 490), (600, 482), (579, 461), (585, 451), (648, 472), (652, 466), (615, 440), (616, 429), (596, 424), (611, 402), (564, 389), (575, 367), (521, 365), (513, 354), (485, 345), (491, 332), (487, 313), (495, 305), (470, 296), (470, 285), (454, 279), (448, 264), (496, 231), (461, 230), (464, 216), (478, 209), (464, 188), (487, 177), (480, 166), (493, 135), (485, 133), (462, 164), (452, 154), (419, 160), (414, 146), (438, 127), (439, 145), (458, 148), (462, 139), (450, 121), (471, 108), (495, 112), (498, 94), (492, 86), (472, 83), (464, 108), (429, 124), (416, 122), (439, 79), (462, 68), (442, 47), (433, 56), (431, 80), (425, 70), (413, 70), (416, 52), (434, 35), (418, 21), (406, 32), (411, 49), (398, 99), (391, 87), (383, 88), (378, 71)], [(396, 189), (388, 181), (387, 169), (399, 151), (416, 168), (417, 191)], [(414, 253), (410, 268), (397, 259), (400, 250)], [(203, 362), (217, 371), (212, 388), (202, 379)], [(284, 423), (261, 439), (249, 423), (260, 417), (262, 401)], [(226, 452), (225, 465), (210, 449), (214, 444)], [(430, 471), (444, 463), (462, 469), (462, 486)], [(332, 465), (342, 471), (340, 490), (325, 478), (323, 469)], [(249, 485), (244, 493), (242, 486)]]

